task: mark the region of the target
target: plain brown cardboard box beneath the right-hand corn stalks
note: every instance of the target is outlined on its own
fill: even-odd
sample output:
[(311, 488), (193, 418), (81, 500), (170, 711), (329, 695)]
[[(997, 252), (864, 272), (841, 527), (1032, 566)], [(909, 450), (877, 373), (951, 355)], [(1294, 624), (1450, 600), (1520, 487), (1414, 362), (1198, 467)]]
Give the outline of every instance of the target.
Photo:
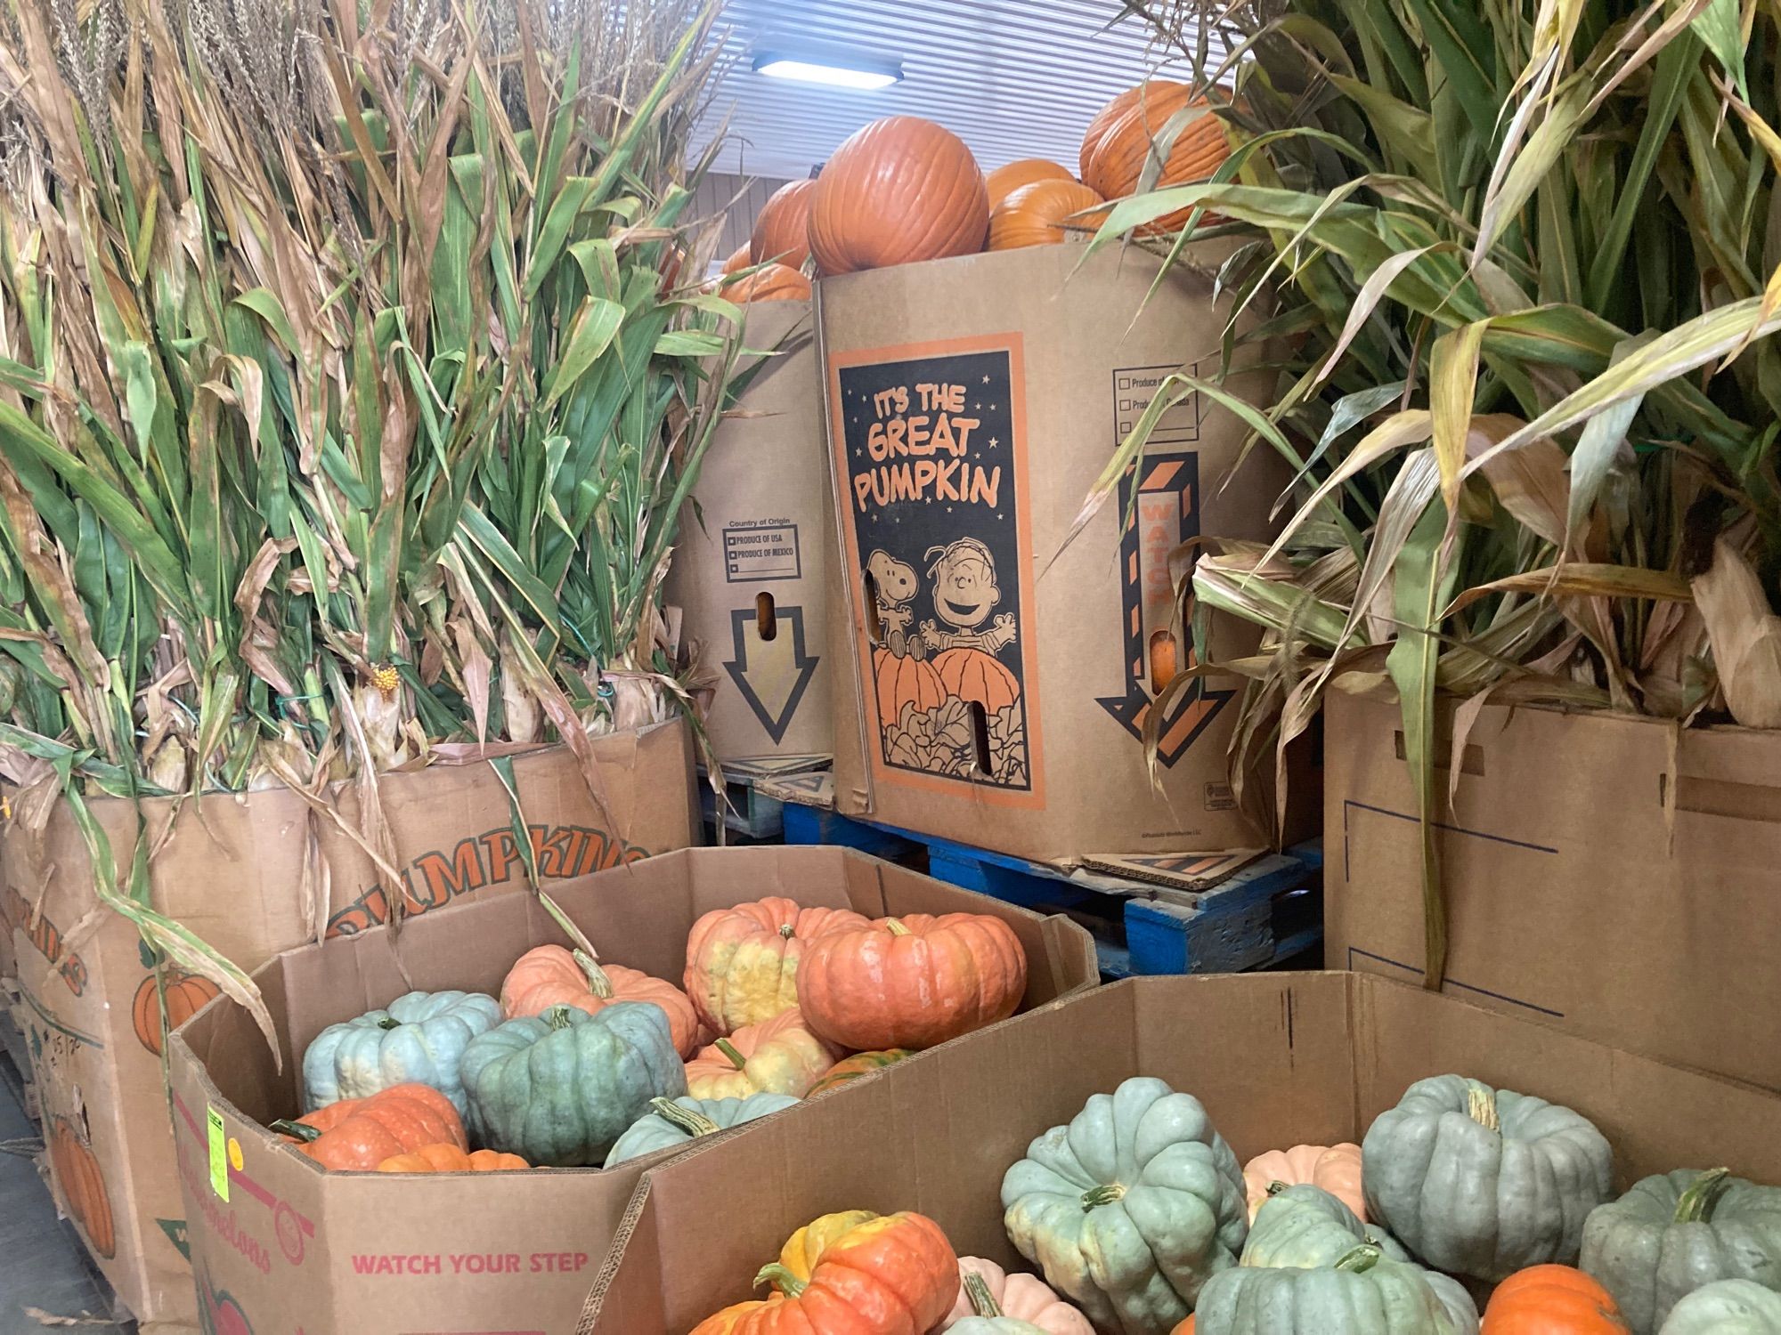
[[(1781, 733), (1485, 707), (1446, 810), (1450, 755), (1446, 990), (1781, 1089)], [(1419, 979), (1398, 707), (1332, 694), (1327, 756), (1325, 959)]]

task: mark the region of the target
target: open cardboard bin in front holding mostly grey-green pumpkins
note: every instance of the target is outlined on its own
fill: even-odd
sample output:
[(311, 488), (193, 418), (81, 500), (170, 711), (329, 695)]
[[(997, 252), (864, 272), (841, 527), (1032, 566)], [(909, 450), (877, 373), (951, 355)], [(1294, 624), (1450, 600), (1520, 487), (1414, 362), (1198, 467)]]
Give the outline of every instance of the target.
[(1781, 1100), (1747, 1086), (1361, 974), (1134, 979), (907, 1063), (844, 1109), (817, 1100), (746, 1146), (655, 1168), (579, 1331), (684, 1335), (750, 1298), (785, 1237), (832, 1210), (919, 1210), (960, 1255), (1031, 1269), (1003, 1232), (1004, 1169), (1133, 1075), (1199, 1096), (1247, 1161), (1359, 1141), (1411, 1082), (1448, 1072), (1578, 1109), (1614, 1145), (1621, 1185), (1708, 1164), (1781, 1180)]

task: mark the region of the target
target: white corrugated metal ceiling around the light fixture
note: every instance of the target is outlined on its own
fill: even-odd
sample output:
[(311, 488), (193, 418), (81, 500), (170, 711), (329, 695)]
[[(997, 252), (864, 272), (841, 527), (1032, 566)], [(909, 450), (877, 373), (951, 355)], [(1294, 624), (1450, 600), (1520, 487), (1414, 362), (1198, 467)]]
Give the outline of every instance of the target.
[[(880, 116), (924, 116), (985, 171), (1044, 157), (1076, 164), (1088, 119), (1156, 68), (1118, 0), (730, 0), (728, 71), (702, 130), (728, 112), (720, 171), (800, 178)], [(757, 50), (850, 48), (903, 62), (878, 93), (753, 73)]]

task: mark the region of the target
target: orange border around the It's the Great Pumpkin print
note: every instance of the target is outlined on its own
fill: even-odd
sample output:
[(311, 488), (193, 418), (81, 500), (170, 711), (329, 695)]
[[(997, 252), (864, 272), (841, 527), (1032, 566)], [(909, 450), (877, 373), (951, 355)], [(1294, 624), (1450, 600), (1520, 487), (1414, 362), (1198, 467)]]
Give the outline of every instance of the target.
[[(825, 376), (828, 379), (828, 400), (830, 400), (830, 420), (828, 420), (828, 450), (830, 463), (835, 468), (835, 506), (837, 513), (844, 513), (846, 520), (839, 523), (842, 541), (846, 543), (846, 580), (848, 580), (848, 605), (853, 609), (853, 637), (855, 637), (855, 660), (860, 664), (864, 680), (858, 682), (860, 687), (860, 708), (869, 710), (874, 728), (871, 740), (874, 742), (866, 756), (866, 764), (871, 769), (873, 781), (896, 783), (905, 789), (915, 789), (921, 792), (933, 792), (947, 797), (969, 797), (971, 801), (983, 801), (992, 806), (1015, 806), (1022, 810), (1038, 810), (1045, 805), (1045, 749), (1040, 737), (1038, 723), (1038, 646), (1031, 632), (1021, 637), (1021, 669), (1024, 680), (1021, 682), (1021, 691), (1026, 696), (1026, 748), (1028, 748), (1028, 774), (1031, 776), (1031, 785), (1026, 792), (1012, 792), (1008, 789), (999, 789), (988, 783), (971, 783), (971, 780), (946, 778), (942, 774), (919, 774), (910, 769), (898, 769), (887, 765), (883, 760), (883, 721), (878, 719), (878, 692), (874, 687), (874, 675), (869, 668), (873, 662), (873, 643), (866, 634), (867, 612), (866, 612), (866, 586), (860, 582), (860, 538), (853, 525), (853, 511), (850, 509), (850, 495), (844, 486), (848, 477), (848, 438), (846, 427), (841, 420), (841, 372), (846, 367), (871, 367), (882, 361), (914, 361), (917, 358), (937, 358), (955, 352), (1006, 352), (1008, 354), (1008, 392), (1013, 397), (1010, 404), (1013, 411), (1013, 498), (1015, 498), (1015, 541), (1021, 546), (1021, 596), (1022, 596), (1022, 616), (1029, 611), (1031, 616), (1024, 616), (1026, 625), (1037, 628), (1038, 625), (1038, 584), (1033, 577), (1033, 507), (1031, 497), (1028, 495), (1028, 472), (1026, 472), (1026, 344), (1019, 331), (1008, 331), (999, 335), (974, 335), (969, 338), (940, 338), (923, 344), (894, 344), (890, 347), (866, 347), (851, 352), (830, 352), (828, 365), (825, 367)], [(871, 703), (866, 703), (871, 701)]]

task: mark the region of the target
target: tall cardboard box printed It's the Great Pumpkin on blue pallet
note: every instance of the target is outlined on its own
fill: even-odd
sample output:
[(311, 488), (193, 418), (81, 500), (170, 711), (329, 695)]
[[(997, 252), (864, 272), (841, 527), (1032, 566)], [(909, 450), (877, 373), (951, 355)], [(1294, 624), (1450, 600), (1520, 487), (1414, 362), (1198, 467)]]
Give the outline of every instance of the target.
[[(1238, 680), (1195, 680), (1168, 705), (1161, 792), (1142, 733), (1152, 644), (1195, 657), (1170, 554), (1268, 536), (1288, 481), (1273, 452), (1227, 484), (1248, 427), (1188, 395), (1058, 555), (1167, 377), (1218, 372), (1227, 304), (1188, 267), (1151, 294), (1158, 267), (1037, 246), (817, 285), (846, 571), (830, 635), (839, 812), (1058, 863), (1272, 833), (1232, 801)], [(1272, 384), (1231, 381), (1257, 402)], [(1254, 643), (1220, 618), (1218, 653)]]

